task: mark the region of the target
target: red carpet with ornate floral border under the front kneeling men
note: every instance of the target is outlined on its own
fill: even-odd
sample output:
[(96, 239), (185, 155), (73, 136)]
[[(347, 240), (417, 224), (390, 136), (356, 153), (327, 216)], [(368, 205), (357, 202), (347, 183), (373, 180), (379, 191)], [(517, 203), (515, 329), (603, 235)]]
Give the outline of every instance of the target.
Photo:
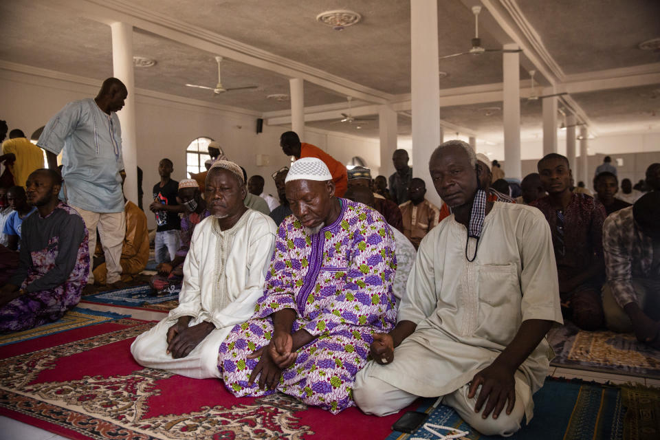
[(3, 347), (0, 414), (72, 439), (136, 440), (384, 439), (399, 417), (237, 399), (217, 380), (143, 369), (129, 347), (151, 325), (121, 319)]

